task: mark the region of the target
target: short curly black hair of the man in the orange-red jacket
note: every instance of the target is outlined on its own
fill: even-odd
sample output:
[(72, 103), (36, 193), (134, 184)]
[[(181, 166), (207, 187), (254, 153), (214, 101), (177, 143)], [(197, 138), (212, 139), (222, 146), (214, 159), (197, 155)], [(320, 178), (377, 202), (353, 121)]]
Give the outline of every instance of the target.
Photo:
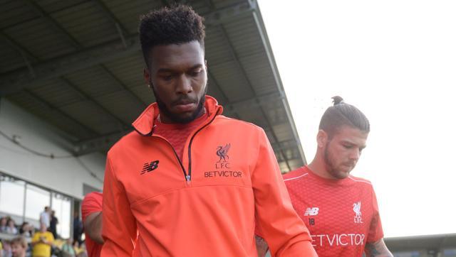
[(152, 10), (140, 16), (142, 55), (150, 65), (150, 50), (155, 45), (183, 44), (197, 40), (204, 50), (204, 18), (192, 7), (177, 4)]

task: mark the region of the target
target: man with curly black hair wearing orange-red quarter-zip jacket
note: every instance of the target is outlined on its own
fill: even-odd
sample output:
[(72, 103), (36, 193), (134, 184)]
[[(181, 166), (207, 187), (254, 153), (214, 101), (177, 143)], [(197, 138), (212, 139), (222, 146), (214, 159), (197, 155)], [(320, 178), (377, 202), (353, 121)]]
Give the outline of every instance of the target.
[(264, 131), (206, 95), (202, 17), (189, 6), (140, 21), (156, 102), (108, 152), (101, 256), (316, 256)]

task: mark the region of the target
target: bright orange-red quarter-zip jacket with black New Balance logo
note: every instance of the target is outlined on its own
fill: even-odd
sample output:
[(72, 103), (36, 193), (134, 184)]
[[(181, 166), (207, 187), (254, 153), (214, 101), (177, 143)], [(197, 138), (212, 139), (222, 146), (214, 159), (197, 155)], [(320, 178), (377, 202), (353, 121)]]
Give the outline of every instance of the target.
[(101, 256), (257, 256), (256, 223), (274, 256), (316, 256), (264, 131), (206, 109), (182, 161), (153, 134), (156, 104), (110, 149)]

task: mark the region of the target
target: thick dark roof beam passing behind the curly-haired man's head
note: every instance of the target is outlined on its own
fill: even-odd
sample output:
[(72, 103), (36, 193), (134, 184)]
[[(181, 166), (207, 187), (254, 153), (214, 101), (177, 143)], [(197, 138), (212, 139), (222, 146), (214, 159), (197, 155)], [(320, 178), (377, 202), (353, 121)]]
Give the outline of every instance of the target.
[[(243, 9), (242, 6), (245, 6), (245, 4), (245, 2), (242, 2), (224, 9), (211, 11), (202, 16), (207, 17), (207, 23), (217, 23), (222, 21), (222, 19), (234, 18), (242, 13), (229, 10)], [(65, 55), (48, 62), (36, 63), (33, 67), (36, 77), (32, 77), (27, 68), (9, 72), (0, 77), (0, 96), (19, 92), (25, 87), (36, 87), (47, 80), (61, 77), (70, 72), (76, 72), (93, 65), (131, 55), (131, 53), (140, 50), (138, 34), (125, 37), (125, 45), (119, 40), (111, 40), (109, 43), (86, 48), (77, 53)]]

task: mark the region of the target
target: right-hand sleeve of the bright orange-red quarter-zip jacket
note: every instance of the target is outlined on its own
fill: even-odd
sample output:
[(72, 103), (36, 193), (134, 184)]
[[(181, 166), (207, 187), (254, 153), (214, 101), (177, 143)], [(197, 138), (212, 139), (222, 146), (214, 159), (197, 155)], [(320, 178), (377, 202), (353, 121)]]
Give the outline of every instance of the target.
[(268, 243), (272, 256), (317, 256), (309, 230), (294, 211), (274, 151), (262, 129), (252, 187), (256, 231)]

